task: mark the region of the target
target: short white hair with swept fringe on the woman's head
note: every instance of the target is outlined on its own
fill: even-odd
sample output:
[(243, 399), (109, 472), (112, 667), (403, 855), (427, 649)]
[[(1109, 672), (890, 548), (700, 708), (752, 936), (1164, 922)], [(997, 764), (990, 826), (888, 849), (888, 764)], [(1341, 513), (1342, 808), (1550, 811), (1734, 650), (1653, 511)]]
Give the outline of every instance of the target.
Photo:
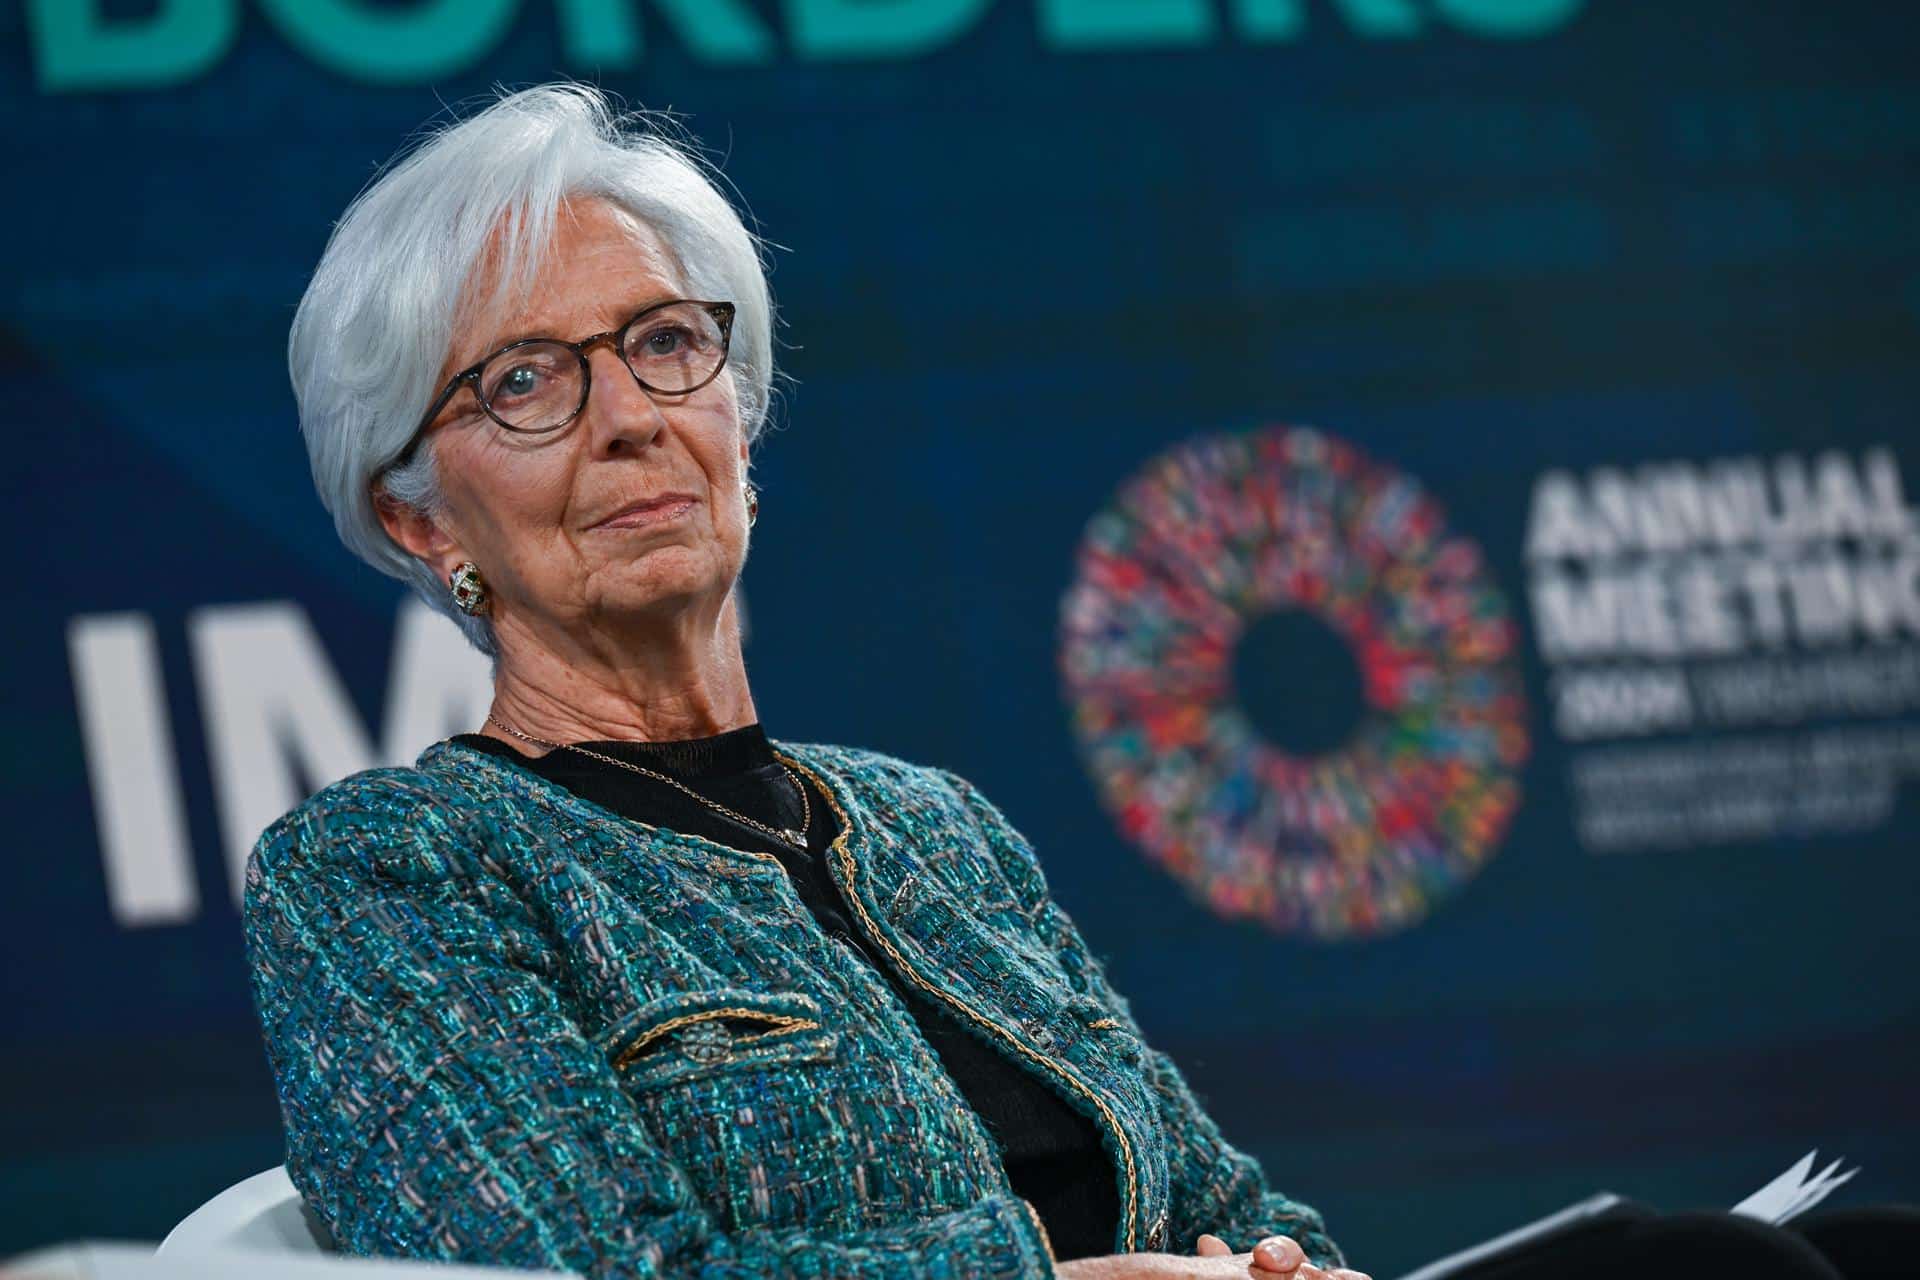
[[(440, 393), (455, 324), (528, 296), (561, 205), (582, 196), (651, 226), (691, 296), (733, 303), (728, 376), (751, 459), (774, 395), (774, 301), (766, 242), (728, 203), (724, 180), (670, 115), (616, 111), (589, 84), (541, 84), (430, 127), (326, 240), (288, 336), (313, 484), (359, 558), (411, 583), (488, 656), (499, 656), (488, 618), (457, 608), (447, 583), (388, 537), (371, 484)], [(495, 228), (497, 257), (486, 259)], [(493, 278), (486, 297), (476, 294), (482, 267)], [(438, 512), (434, 436), (382, 486)]]

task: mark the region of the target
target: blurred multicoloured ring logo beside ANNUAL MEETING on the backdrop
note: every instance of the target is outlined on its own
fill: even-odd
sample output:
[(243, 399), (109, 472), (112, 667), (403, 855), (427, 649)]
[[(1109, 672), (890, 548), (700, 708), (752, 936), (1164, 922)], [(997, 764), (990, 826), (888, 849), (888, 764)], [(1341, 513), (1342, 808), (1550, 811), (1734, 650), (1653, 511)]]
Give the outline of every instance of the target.
[[(1296, 756), (1233, 689), (1254, 620), (1308, 610), (1363, 712)], [(1121, 833), (1225, 919), (1319, 940), (1421, 921), (1498, 848), (1528, 752), (1519, 633), (1419, 482), (1311, 428), (1187, 441), (1089, 524), (1062, 601), (1081, 756)]]

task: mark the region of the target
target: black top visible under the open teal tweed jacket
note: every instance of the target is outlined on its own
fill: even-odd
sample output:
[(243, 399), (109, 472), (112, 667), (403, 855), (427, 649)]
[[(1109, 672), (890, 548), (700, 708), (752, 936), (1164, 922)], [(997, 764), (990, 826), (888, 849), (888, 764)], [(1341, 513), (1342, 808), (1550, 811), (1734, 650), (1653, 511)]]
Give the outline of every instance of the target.
[[(1006, 1178), (1018, 1196), (1039, 1209), (1054, 1255), (1066, 1261), (1114, 1251), (1119, 1188), (1112, 1161), (1100, 1151), (1098, 1126), (1037, 1077), (1027, 1075), (1012, 1057), (960, 1025), (935, 1004), (933, 996), (910, 986), (852, 925), (839, 885), (828, 875), (826, 865), (826, 850), (839, 835), (839, 818), (804, 775), (799, 777), (808, 787), (812, 821), (803, 854), (707, 808), (668, 783), (576, 750), (549, 750), (534, 758), (484, 733), (461, 733), (453, 741), (511, 760), (636, 821), (780, 858), (801, 902), (820, 921), (820, 929), (851, 946), (889, 981), (960, 1086), (960, 1094), (1006, 1146), (1002, 1157)], [(668, 773), (703, 796), (770, 827), (793, 831), (801, 827), (801, 796), (793, 791), (758, 723), (714, 737), (668, 743), (586, 741), (580, 747)]]

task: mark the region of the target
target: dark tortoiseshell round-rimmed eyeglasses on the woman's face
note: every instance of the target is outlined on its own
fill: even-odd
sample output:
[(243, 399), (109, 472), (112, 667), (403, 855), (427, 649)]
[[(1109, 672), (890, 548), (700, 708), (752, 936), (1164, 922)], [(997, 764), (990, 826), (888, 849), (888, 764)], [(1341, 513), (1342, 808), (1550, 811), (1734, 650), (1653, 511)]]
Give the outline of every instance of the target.
[(459, 390), (472, 388), (486, 416), (509, 432), (557, 432), (588, 407), (593, 368), (588, 351), (611, 342), (626, 370), (655, 395), (689, 395), (720, 376), (733, 338), (733, 303), (672, 297), (639, 311), (620, 328), (580, 342), (522, 338), (453, 374), (434, 399), (407, 447), (394, 459), (405, 466), (426, 428)]

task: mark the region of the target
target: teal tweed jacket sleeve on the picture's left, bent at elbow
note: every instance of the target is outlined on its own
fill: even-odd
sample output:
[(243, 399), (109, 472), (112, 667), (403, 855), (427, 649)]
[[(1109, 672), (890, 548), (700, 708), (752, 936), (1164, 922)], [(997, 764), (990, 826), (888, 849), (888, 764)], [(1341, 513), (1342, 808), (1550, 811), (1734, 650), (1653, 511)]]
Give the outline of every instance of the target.
[(1052, 1274), (1010, 1194), (889, 1228), (718, 1230), (570, 1017), (518, 898), (434, 808), (309, 800), (248, 862), (288, 1174), (344, 1253), (593, 1278)]

